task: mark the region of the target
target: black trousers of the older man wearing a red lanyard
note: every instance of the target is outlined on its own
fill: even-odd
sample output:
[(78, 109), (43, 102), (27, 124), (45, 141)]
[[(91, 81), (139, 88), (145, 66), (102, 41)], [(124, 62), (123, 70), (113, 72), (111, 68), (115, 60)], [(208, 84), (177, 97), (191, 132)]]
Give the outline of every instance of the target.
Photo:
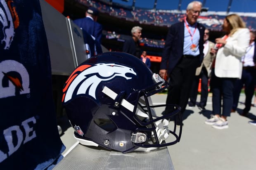
[[(166, 104), (178, 104), (183, 113), (186, 109), (190, 95), (192, 81), (194, 80), (196, 68), (199, 66), (199, 57), (183, 57), (169, 74), (170, 86)], [(166, 107), (165, 113), (173, 111), (172, 107)]]

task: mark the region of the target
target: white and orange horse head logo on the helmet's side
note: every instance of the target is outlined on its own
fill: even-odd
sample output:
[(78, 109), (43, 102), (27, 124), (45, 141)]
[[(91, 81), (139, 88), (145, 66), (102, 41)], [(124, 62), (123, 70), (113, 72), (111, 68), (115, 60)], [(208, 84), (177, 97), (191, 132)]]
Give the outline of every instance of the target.
[(126, 73), (137, 75), (133, 68), (113, 63), (79, 66), (66, 81), (62, 102), (68, 102), (76, 89), (76, 95), (88, 92), (88, 95), (96, 99), (95, 92), (102, 81), (109, 81), (116, 76), (123, 77), (126, 80), (131, 79), (131, 77), (126, 76)]

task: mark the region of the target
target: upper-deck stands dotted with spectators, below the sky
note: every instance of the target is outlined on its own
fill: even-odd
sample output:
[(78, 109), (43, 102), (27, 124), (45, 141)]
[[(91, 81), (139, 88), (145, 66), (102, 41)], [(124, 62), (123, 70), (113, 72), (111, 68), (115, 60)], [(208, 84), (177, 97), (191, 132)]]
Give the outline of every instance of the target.
[[(111, 16), (157, 26), (169, 27), (178, 21), (182, 21), (185, 17), (185, 10), (154, 10), (143, 8), (135, 8), (132, 10), (131, 7), (126, 7), (121, 4), (118, 5), (114, 2), (110, 3), (106, 0), (79, 0), (79, 2), (85, 6), (97, 7), (100, 12)], [(226, 12), (202, 12), (198, 21), (211, 31), (221, 31), (221, 26), (226, 15)], [(244, 22), (246, 22), (248, 28), (252, 30), (256, 29), (256, 14), (242, 13), (239, 15)]]

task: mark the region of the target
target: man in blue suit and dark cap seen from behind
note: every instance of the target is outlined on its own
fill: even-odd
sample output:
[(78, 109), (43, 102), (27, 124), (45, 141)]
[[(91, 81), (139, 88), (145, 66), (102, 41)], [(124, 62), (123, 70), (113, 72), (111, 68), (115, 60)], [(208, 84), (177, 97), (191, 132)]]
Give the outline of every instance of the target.
[(84, 31), (92, 35), (101, 44), (102, 25), (97, 23), (99, 11), (95, 7), (89, 7), (85, 12), (85, 18), (76, 19), (73, 22)]

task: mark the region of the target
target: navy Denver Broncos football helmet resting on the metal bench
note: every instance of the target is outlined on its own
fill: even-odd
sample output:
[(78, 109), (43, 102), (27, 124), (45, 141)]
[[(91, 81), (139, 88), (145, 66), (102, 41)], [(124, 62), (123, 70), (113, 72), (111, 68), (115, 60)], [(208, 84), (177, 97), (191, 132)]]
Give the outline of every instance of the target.
[[(80, 64), (63, 88), (62, 104), (83, 145), (121, 151), (150, 151), (180, 141), (180, 107), (156, 116), (153, 94), (168, 83), (137, 57), (123, 52), (105, 52)], [(161, 114), (160, 114), (161, 115)], [(170, 130), (171, 129), (173, 130)], [(168, 139), (167, 139), (168, 138)]]

